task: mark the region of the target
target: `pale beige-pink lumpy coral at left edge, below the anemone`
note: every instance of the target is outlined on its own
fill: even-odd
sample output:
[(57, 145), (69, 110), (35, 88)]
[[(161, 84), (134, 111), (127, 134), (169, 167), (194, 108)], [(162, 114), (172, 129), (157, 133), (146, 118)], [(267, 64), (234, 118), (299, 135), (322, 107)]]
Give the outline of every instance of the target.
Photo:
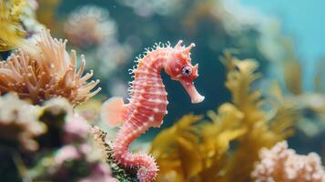
[(46, 133), (46, 125), (39, 121), (39, 109), (14, 94), (0, 97), (0, 138), (2, 142), (18, 144), (23, 151), (36, 151), (36, 136)]

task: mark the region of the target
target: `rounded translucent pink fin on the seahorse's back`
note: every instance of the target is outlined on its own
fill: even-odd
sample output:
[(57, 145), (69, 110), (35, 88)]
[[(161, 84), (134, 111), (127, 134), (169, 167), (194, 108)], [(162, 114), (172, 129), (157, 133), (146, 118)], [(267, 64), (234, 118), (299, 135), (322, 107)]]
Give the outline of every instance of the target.
[(117, 126), (123, 122), (123, 98), (111, 97), (102, 106), (101, 116), (107, 121), (108, 126)]

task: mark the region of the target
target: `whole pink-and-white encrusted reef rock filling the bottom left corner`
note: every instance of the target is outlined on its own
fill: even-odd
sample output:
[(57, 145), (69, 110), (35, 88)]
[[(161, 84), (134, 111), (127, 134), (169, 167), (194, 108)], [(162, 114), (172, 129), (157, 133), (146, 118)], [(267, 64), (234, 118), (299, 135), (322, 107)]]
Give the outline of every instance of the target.
[(117, 182), (91, 126), (66, 99), (32, 106), (6, 95), (0, 103), (2, 180)]

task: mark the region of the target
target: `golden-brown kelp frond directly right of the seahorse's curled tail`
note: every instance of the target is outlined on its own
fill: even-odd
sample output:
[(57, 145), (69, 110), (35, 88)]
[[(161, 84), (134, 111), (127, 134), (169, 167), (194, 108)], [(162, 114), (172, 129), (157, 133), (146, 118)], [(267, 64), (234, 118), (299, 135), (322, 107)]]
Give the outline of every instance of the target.
[(150, 153), (159, 165), (158, 181), (187, 181), (202, 170), (198, 148), (198, 127), (202, 116), (183, 116), (177, 124), (162, 131), (152, 142)]

